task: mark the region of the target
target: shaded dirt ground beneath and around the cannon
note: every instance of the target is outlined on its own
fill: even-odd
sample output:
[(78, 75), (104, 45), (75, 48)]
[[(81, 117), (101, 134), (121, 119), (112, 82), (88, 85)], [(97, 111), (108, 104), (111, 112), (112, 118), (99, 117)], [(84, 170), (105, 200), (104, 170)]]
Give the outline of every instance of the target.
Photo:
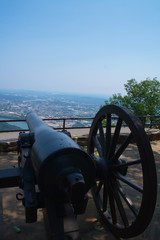
[[(157, 240), (160, 235), (160, 141), (151, 142), (151, 145), (158, 178), (156, 210), (145, 232), (132, 240)], [(0, 169), (12, 166), (17, 166), (16, 152), (0, 153)], [(24, 207), (15, 197), (19, 191), (19, 188), (0, 189), (0, 240), (46, 240), (42, 210), (38, 210), (36, 223), (25, 223)], [(94, 202), (90, 198), (85, 214), (78, 217), (82, 240), (116, 240), (109, 231), (103, 229), (98, 219)]]

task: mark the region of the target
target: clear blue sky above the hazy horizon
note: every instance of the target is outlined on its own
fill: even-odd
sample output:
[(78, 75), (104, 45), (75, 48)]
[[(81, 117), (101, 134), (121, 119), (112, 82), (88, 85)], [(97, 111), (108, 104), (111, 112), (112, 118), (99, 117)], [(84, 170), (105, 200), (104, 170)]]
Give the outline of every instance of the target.
[(160, 80), (159, 0), (0, 0), (0, 88), (125, 94)]

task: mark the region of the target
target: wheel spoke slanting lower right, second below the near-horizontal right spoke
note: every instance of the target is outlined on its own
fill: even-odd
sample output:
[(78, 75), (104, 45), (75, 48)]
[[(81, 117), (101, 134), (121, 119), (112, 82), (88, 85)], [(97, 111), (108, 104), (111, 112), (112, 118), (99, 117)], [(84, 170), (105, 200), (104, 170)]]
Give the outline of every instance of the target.
[(118, 192), (120, 193), (121, 197), (124, 199), (124, 201), (127, 203), (129, 209), (132, 211), (132, 213), (134, 214), (135, 217), (137, 217), (138, 215), (138, 211), (135, 207), (135, 205), (133, 204), (132, 200), (129, 198), (129, 196), (127, 195), (127, 193), (124, 191), (124, 189), (122, 188), (121, 184), (117, 181), (115, 184), (115, 187), (117, 188)]

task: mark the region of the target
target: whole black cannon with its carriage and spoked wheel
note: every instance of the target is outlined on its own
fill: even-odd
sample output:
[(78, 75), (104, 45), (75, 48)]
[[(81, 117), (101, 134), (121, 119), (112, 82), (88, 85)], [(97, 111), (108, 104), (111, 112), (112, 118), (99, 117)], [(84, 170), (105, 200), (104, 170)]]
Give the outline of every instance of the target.
[[(0, 170), (0, 187), (19, 186), (26, 222), (42, 208), (49, 240), (80, 239), (76, 215), (91, 190), (100, 221), (116, 237), (131, 238), (149, 225), (157, 196), (153, 152), (137, 117), (125, 107), (108, 105), (96, 114), (87, 152), (68, 133), (26, 117), (20, 133), (18, 168)], [(133, 157), (128, 154), (136, 152)]]

